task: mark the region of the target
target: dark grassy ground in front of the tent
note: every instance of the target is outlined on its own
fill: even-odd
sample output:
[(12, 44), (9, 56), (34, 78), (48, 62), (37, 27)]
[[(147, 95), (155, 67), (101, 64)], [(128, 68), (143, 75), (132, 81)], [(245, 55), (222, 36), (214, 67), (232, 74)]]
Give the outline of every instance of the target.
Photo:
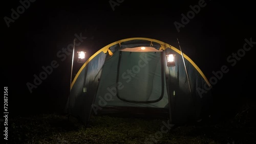
[[(76, 118), (38, 114), (10, 119), (8, 143), (255, 143), (254, 126), (240, 123), (183, 125), (161, 133), (167, 119), (93, 116), (85, 127)], [(164, 128), (163, 130), (167, 130)]]

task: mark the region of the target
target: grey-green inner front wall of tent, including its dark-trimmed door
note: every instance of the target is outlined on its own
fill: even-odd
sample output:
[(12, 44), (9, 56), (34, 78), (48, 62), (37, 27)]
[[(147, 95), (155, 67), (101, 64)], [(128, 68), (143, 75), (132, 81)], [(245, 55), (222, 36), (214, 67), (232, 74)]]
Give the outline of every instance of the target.
[[(95, 105), (157, 108), (166, 107), (166, 105), (168, 105), (168, 98), (167, 93), (164, 92), (164, 90), (166, 91), (165, 83), (162, 82), (161, 79), (161, 61), (159, 60), (160, 52), (122, 52), (118, 75), (119, 55), (120, 51), (116, 52), (115, 55), (113, 55), (113, 57), (104, 64), (101, 82), (99, 84), (100, 90), (98, 90), (96, 95)], [(146, 56), (150, 57), (148, 58), (150, 61), (147, 63), (142, 62), (141, 58), (145, 58)], [(142, 66), (140, 67), (140, 64), (138, 63), (142, 64)], [(136, 69), (134, 70), (135, 73), (127, 73), (127, 71), (133, 71), (133, 69)], [(116, 87), (117, 83), (120, 88)], [(100, 98), (104, 98), (105, 95), (111, 95), (110, 97), (112, 98), (112, 100), (108, 101), (106, 105), (100, 101)], [(129, 101), (132, 102), (129, 103)], [(148, 101), (158, 102), (146, 104)]]

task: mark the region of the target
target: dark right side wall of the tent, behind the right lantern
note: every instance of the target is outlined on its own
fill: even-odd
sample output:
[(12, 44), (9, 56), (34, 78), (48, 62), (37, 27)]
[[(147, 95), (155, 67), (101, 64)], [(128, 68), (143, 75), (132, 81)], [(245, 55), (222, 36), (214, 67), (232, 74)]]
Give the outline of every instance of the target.
[[(169, 74), (166, 77), (169, 79), (167, 80), (167, 89), (170, 93), (172, 121), (173, 123), (184, 123), (191, 119), (198, 119), (204, 107), (202, 107), (202, 99), (199, 97), (197, 88), (203, 87), (206, 82), (198, 70), (184, 59), (191, 87), (190, 92), (182, 56), (171, 49), (166, 49), (165, 54), (167, 53), (176, 54), (176, 66), (166, 66), (167, 71), (165, 71), (166, 74)], [(205, 97), (205, 99), (211, 97), (210, 92)]]

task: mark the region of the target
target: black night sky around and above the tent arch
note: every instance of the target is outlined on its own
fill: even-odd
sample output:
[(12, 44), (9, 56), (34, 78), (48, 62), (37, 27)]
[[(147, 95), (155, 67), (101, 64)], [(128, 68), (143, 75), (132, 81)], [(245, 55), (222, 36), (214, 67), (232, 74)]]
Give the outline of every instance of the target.
[[(16, 11), (22, 4), (5, 3), (2, 77), (4, 86), (9, 88), (10, 115), (61, 112), (69, 95), (72, 54), (67, 58), (59, 58), (57, 54), (73, 43), (75, 34), (87, 37), (75, 48), (85, 50), (87, 58), (103, 46), (124, 38), (153, 38), (179, 48), (178, 37), (183, 53), (208, 79), (214, 77), (212, 71), (221, 70), (223, 65), (228, 67), (228, 73), (213, 86), (216, 109), (231, 113), (245, 98), (255, 100), (256, 44), (239, 60), (232, 57), (232, 53), (243, 49), (245, 39), (256, 42), (255, 8), (249, 1), (125, 0), (113, 11), (109, 1), (37, 0), (8, 24), (5, 16), (11, 19), (11, 9)], [(175, 21), (182, 25), (182, 14), (187, 15), (191, 11), (189, 6), (199, 3), (203, 7), (178, 32)], [(239, 52), (242, 54), (243, 50)], [(27, 83), (33, 84), (34, 75), (39, 76), (44, 71), (42, 66), (47, 67), (53, 61), (58, 67), (30, 93)], [(74, 75), (81, 66), (74, 61)]]

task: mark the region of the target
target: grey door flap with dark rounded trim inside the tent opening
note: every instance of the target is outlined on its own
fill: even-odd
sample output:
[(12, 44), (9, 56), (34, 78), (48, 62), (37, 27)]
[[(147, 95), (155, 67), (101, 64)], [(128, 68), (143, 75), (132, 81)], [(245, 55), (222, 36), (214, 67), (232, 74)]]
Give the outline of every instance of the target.
[(160, 101), (164, 94), (162, 55), (161, 52), (119, 51), (117, 98), (130, 103)]

